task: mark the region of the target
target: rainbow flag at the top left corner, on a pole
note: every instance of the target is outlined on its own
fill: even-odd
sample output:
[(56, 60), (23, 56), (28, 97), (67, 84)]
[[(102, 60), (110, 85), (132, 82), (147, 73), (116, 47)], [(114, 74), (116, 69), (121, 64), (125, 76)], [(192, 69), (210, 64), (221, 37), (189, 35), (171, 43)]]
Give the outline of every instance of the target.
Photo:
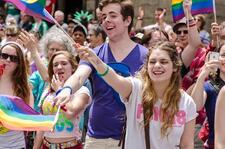
[(4, 0), (14, 4), (18, 9), (36, 18), (54, 23), (54, 18), (45, 9), (45, 0)]

